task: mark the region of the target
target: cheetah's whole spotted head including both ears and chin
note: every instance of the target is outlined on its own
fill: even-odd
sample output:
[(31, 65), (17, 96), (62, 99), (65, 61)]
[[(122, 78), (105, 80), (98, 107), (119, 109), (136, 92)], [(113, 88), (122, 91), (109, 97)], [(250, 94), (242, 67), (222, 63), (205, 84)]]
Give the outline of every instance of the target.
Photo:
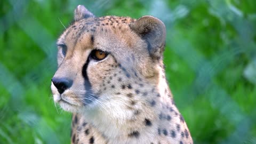
[(59, 37), (58, 69), (52, 78), (54, 102), (71, 112), (120, 103), (124, 90), (141, 79), (154, 82), (162, 60), (165, 26), (139, 20), (100, 17), (79, 5), (75, 21)]

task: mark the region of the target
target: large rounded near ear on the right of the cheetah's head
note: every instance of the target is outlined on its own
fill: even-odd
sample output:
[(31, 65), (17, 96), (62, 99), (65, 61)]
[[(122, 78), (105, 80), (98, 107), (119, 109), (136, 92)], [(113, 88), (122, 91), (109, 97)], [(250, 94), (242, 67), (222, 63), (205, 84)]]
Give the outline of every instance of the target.
[(131, 23), (130, 27), (147, 42), (149, 54), (153, 59), (162, 58), (166, 29), (161, 20), (147, 15)]

